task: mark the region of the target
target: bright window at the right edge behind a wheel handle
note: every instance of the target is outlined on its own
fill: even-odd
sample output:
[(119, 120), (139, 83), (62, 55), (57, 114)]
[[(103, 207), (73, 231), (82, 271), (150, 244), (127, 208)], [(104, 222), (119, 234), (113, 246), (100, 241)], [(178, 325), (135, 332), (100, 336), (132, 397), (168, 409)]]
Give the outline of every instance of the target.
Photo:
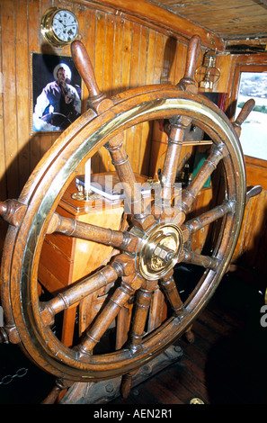
[(267, 72), (241, 72), (236, 116), (254, 98), (253, 112), (242, 125), (240, 141), (246, 156), (267, 160)]

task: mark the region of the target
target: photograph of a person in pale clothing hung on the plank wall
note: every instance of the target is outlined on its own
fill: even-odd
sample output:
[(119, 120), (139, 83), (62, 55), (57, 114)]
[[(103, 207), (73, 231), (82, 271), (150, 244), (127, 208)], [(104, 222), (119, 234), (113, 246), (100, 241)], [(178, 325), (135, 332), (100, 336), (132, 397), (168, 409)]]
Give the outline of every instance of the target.
[(68, 56), (32, 53), (32, 131), (62, 131), (81, 115), (81, 76)]

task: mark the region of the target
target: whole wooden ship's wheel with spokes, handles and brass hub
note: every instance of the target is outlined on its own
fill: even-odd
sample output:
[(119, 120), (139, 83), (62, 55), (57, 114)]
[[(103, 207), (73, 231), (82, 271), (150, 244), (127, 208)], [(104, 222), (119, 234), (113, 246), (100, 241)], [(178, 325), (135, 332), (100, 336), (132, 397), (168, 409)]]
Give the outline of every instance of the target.
[[(18, 200), (0, 203), (10, 226), (4, 245), (1, 301), (4, 308), (2, 340), (19, 343), (43, 370), (70, 383), (91, 383), (123, 375), (129, 391), (131, 375), (182, 336), (209, 302), (227, 270), (241, 228), (246, 181), (240, 123), (248, 105), (233, 125), (218, 107), (197, 93), (194, 72), (200, 38), (191, 39), (185, 75), (178, 85), (149, 85), (106, 98), (96, 85), (93, 68), (80, 41), (72, 55), (90, 94), (91, 107), (58, 138), (41, 159)], [(144, 121), (168, 121), (168, 146), (160, 184), (152, 197), (136, 188), (136, 175), (123, 148), (123, 132)], [(210, 139), (209, 157), (182, 190), (176, 190), (185, 130), (194, 125)], [(119, 230), (76, 222), (56, 212), (77, 166), (100, 148), (111, 155), (125, 193), (124, 223)], [(219, 167), (220, 192), (209, 211), (190, 217), (191, 206), (203, 185)], [(209, 251), (196, 253), (191, 237), (211, 227)], [(61, 233), (114, 248), (110, 262), (63, 292), (44, 300), (38, 288), (40, 253), (47, 234)], [(210, 239), (212, 243), (210, 243)], [(200, 266), (200, 279), (182, 298), (174, 280), (174, 266)], [(106, 301), (76, 344), (65, 346), (52, 327), (67, 308), (105, 288)], [(165, 317), (147, 330), (147, 316), (156, 290), (164, 293)], [(102, 338), (116, 317), (130, 311), (124, 338), (102, 350)], [(118, 334), (117, 334), (118, 338)], [(128, 381), (128, 384), (125, 382)]]

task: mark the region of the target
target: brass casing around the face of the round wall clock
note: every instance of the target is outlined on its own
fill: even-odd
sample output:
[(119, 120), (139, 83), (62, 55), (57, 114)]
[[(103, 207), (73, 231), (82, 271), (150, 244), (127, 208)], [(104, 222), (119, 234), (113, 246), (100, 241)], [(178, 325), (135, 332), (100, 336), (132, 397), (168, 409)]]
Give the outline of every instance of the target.
[(71, 10), (68, 10), (68, 9), (65, 9), (65, 8), (50, 7), (45, 12), (45, 14), (43, 14), (43, 16), (41, 18), (41, 23), (40, 23), (40, 31), (41, 31), (43, 38), (45, 40), (47, 40), (49, 42), (49, 44), (51, 44), (53, 47), (67, 46), (72, 41), (76, 40), (78, 33), (79, 33), (79, 23), (78, 23), (78, 20), (76, 18), (76, 15), (73, 14), (73, 16), (76, 18), (76, 22), (77, 22), (76, 37), (74, 37), (72, 40), (69, 40), (69, 41), (60, 40), (58, 38), (58, 36), (57, 36), (57, 34), (56, 34), (56, 32), (54, 31), (54, 28), (53, 28), (53, 20), (54, 20), (55, 15), (58, 14), (58, 12), (60, 12), (60, 11), (66, 11), (69, 14), (73, 14), (73, 12), (71, 12)]

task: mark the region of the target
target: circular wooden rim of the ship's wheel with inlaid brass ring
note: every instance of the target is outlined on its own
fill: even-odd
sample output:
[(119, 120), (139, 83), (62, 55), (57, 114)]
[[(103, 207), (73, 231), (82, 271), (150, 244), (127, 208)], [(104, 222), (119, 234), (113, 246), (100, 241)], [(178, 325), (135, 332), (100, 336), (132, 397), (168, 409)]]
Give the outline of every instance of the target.
[[(209, 301), (236, 246), (245, 207), (245, 166), (239, 141), (230, 122), (213, 103), (200, 95), (183, 93), (170, 85), (165, 89), (160, 85), (146, 87), (145, 94), (143, 90), (140, 88), (138, 94), (135, 90), (135, 95), (129, 90), (115, 97), (115, 105), (99, 116), (94, 117), (93, 112), (86, 112), (59, 137), (50, 154), (40, 161), (19, 198), (28, 206), (20, 228), (9, 229), (2, 267), (4, 309), (13, 316), (22, 347), (38, 365), (57, 376), (84, 382), (106, 379), (126, 374), (160, 354), (178, 335), (182, 335)], [(76, 166), (85, 157), (92, 157), (109, 138), (120, 130), (147, 121), (148, 116), (149, 119), (162, 119), (175, 114), (191, 116), (192, 121), (205, 128), (214, 143), (223, 141), (227, 147), (229, 155), (223, 159), (226, 174), (235, 175), (235, 184), (228, 184), (228, 196), (235, 202), (236, 211), (227, 214), (225, 227), (231, 228), (232, 236), (227, 240), (223, 237), (219, 239), (217, 257), (222, 261), (217, 271), (206, 272), (197, 293), (185, 302), (184, 314), (167, 320), (160, 327), (160, 337), (158, 330), (156, 334), (149, 334), (143, 340), (143, 349), (134, 356), (130, 355), (129, 350), (121, 349), (111, 355), (92, 356), (90, 363), (80, 362), (76, 360), (75, 352), (63, 346), (49, 328), (43, 327), (40, 320), (35, 281), (49, 217), (56, 208), (60, 193), (75, 175)], [(43, 192), (45, 185), (49, 186), (46, 193)], [(21, 247), (23, 256), (17, 246)], [(10, 298), (11, 309), (7, 298)], [(19, 298), (21, 301), (18, 303)]]

